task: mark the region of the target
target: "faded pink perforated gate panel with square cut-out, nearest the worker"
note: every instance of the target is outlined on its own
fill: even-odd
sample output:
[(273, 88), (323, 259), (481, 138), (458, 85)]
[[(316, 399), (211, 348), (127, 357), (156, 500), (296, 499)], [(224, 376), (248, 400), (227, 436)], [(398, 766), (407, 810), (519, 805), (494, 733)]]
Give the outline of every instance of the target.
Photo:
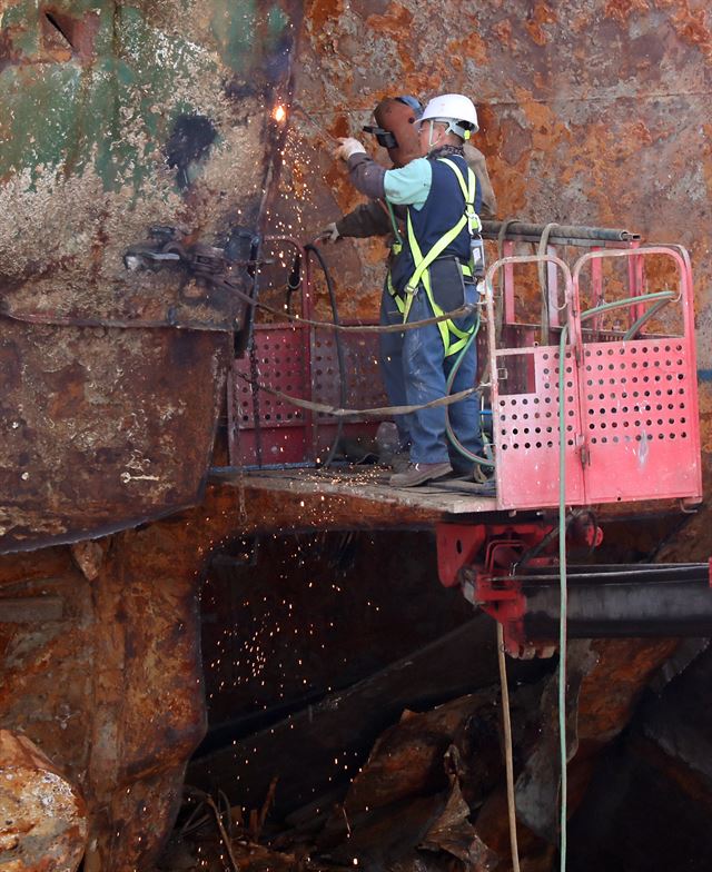
[[(523, 358), (526, 356), (526, 360)], [(497, 351), (497, 494), (502, 508), (558, 504), (558, 348)], [(566, 355), (566, 502), (583, 502), (576, 373)], [(510, 393), (505, 393), (510, 392)]]

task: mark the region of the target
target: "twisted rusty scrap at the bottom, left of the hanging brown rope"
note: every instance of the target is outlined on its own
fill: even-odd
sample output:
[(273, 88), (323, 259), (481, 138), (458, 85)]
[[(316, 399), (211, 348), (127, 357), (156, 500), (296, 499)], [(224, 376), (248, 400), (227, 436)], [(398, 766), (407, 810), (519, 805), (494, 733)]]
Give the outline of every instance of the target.
[[(522, 687), (520, 696), (528, 695)], [(501, 803), (503, 772), (497, 687), (423, 713), (406, 710), (378, 737), (345, 795), (333, 791), (280, 820), (269, 814), (278, 777), (261, 809), (251, 813), (230, 806), (224, 793), (212, 799), (187, 789), (161, 865), (235, 871), (505, 869), (506, 861), (502, 864), (503, 856), (477, 826), (485, 812), (487, 838), (494, 836), (506, 856), (506, 810), (493, 815)], [(544, 842), (538, 846), (548, 863), (553, 849)]]

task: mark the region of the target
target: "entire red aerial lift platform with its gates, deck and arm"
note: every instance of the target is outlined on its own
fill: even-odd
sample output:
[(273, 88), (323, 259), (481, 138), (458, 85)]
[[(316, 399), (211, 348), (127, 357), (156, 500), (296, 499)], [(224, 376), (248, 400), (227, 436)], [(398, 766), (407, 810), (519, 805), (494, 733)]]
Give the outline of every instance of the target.
[[(254, 318), (228, 379), (229, 465), (212, 474), (290, 498), (413, 511), (419, 525), (431, 517), (441, 582), (504, 625), (511, 654), (531, 656), (557, 634), (562, 531), (593, 549), (602, 518), (692, 512), (702, 501), (692, 268), (681, 246), (644, 245), (626, 230), (521, 221), (483, 230), (497, 242), (477, 337), (494, 488), (397, 489), (377, 464), (332, 463), (337, 444), (367, 444), (378, 422), (364, 410), (386, 405), (377, 333), (316, 319), (316, 252), (281, 237), (264, 244), (294, 249), (301, 309)], [(712, 626), (708, 564), (586, 565), (570, 575), (570, 635)]]

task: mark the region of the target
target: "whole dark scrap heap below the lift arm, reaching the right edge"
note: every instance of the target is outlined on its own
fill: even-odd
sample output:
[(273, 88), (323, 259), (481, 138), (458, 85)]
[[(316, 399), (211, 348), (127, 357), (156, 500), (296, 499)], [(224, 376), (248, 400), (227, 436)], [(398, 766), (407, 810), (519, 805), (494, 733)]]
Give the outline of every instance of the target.
[[(492, 670), (486, 682), (475, 675), (472, 666), (478, 660), (467, 648), (482, 626), (475, 620), (304, 712), (194, 760), (188, 782), (200, 790), (188, 790), (164, 869), (508, 872), (501, 687)], [(490, 662), (482, 643), (481, 664)], [(438, 672), (456, 671), (444, 656), (453, 650), (461, 671), (467, 664), (471, 690), (451, 684), (439, 704), (423, 702), (425, 686), (437, 685)], [(712, 801), (700, 777), (691, 781), (685, 774), (690, 755), (682, 750), (671, 755), (678, 721), (669, 705), (680, 708), (685, 684), (675, 671), (688, 665), (686, 660), (674, 665), (674, 650), (669, 640), (570, 642), (568, 865), (577, 872), (600, 869), (606, 859), (611, 872), (674, 868), (650, 865), (652, 854), (622, 840), (622, 828), (634, 824), (643, 802), (651, 820), (664, 811), (684, 823), (691, 797), (671, 804), (673, 783), (694, 781), (693, 805), (702, 796), (705, 807)], [(698, 671), (706, 674), (712, 654), (704, 643), (688, 655), (695, 657)], [(555, 658), (510, 661), (516, 836), (526, 872), (548, 872), (558, 864), (555, 665)], [(396, 713), (395, 698), (400, 701)], [(389, 725), (384, 729), (384, 723)], [(637, 769), (622, 765), (625, 755)], [(641, 794), (641, 784), (657, 783), (668, 785), (665, 791)], [(615, 795), (606, 784), (615, 785)], [(609, 820), (611, 803), (617, 811)], [(643, 821), (637, 825), (651, 829)], [(685, 826), (694, 830), (695, 851), (706, 858), (712, 842), (706, 845), (704, 830)], [(675, 850), (681, 856), (689, 853), (682, 844)]]

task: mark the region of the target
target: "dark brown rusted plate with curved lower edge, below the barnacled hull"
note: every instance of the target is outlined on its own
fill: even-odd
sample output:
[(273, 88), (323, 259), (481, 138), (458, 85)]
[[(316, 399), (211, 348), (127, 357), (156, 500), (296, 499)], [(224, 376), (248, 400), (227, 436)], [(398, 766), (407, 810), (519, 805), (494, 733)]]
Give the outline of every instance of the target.
[(228, 340), (0, 321), (0, 553), (194, 503)]

